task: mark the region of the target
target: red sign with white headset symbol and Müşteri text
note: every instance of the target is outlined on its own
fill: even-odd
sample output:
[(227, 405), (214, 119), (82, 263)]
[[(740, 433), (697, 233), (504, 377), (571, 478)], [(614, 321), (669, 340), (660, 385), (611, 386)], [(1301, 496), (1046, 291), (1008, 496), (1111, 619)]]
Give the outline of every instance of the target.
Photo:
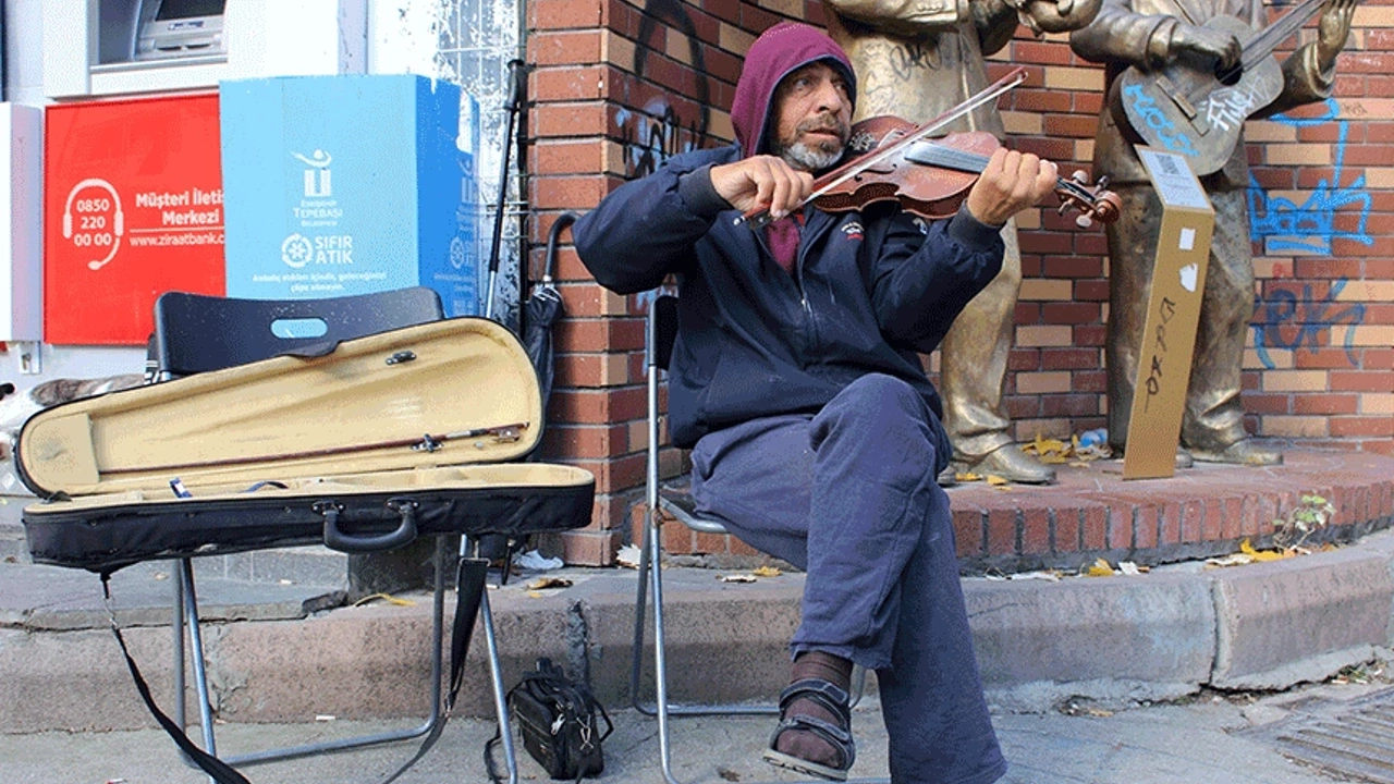
[(43, 339), (142, 345), (155, 299), (223, 294), (217, 96), (47, 106)]

